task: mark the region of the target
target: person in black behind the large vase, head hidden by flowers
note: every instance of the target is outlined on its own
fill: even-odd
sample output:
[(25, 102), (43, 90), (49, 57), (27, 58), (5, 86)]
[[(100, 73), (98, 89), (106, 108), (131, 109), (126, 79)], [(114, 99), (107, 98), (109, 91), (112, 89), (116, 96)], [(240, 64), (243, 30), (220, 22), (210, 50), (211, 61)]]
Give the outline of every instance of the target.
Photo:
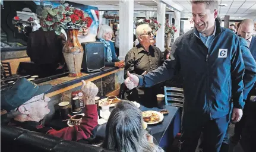
[[(40, 20), (42, 25), (42, 19)], [(27, 55), (34, 62), (36, 68), (27, 69), (39, 77), (48, 77), (65, 71), (65, 59), (62, 48), (65, 45), (65, 38), (57, 35), (54, 30), (39, 30), (30, 33), (27, 41)], [(26, 67), (24, 67), (26, 68)], [(59, 69), (59, 70), (57, 70)]]

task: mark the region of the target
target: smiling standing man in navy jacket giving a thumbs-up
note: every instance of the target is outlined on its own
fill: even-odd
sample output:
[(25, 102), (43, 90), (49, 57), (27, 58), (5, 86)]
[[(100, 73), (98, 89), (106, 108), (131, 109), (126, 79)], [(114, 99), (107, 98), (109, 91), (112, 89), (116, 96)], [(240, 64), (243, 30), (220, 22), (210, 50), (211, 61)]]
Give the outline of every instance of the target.
[(239, 37), (215, 23), (217, 1), (192, 1), (194, 30), (178, 37), (172, 46), (175, 60), (146, 75), (129, 74), (129, 89), (160, 83), (181, 72), (184, 77), (184, 117), (181, 151), (195, 151), (201, 131), (204, 151), (219, 151), (230, 119), (242, 117), (244, 61)]

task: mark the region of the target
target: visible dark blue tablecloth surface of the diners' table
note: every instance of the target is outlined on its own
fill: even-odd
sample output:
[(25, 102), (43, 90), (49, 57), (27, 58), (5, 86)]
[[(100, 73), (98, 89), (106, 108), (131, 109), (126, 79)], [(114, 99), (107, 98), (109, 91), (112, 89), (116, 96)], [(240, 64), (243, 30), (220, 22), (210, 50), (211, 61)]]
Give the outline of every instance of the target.
[[(101, 108), (98, 109), (98, 113)], [(160, 141), (163, 138), (163, 135), (165, 135), (165, 132), (169, 128), (170, 124), (173, 121), (173, 118), (175, 118), (175, 115), (179, 112), (178, 107), (173, 107), (173, 106), (165, 106), (164, 109), (169, 111), (168, 115), (164, 116), (163, 122), (155, 125), (148, 125), (147, 129), (150, 131), (150, 134), (153, 135), (153, 137), (156, 139), (157, 143), (160, 143)], [(113, 107), (110, 107), (110, 111), (113, 110)], [(154, 110), (159, 112), (159, 108), (153, 107), (153, 108), (148, 108), (144, 107), (143, 105), (140, 106), (141, 111), (147, 111), (147, 110)], [(83, 109), (80, 113), (83, 113)], [(77, 115), (78, 113), (72, 113), (71, 115)], [(56, 115), (58, 115), (58, 112), (56, 112)], [(67, 121), (62, 122), (62, 119), (59, 118), (59, 116), (54, 116), (52, 121), (50, 121), (46, 126), (51, 126), (52, 128), (59, 130), (62, 128), (67, 127)], [(104, 139), (105, 138), (105, 129), (106, 129), (106, 124), (99, 125), (97, 128), (97, 138), (99, 139)]]

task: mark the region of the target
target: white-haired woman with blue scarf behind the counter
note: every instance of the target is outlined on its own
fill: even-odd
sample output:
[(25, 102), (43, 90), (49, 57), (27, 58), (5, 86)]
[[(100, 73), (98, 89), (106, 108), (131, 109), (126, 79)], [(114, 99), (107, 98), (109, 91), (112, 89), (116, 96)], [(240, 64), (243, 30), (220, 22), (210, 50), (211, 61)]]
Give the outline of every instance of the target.
[(97, 34), (97, 37), (99, 39), (97, 41), (102, 42), (104, 45), (105, 65), (124, 68), (124, 61), (119, 61), (119, 59), (116, 58), (115, 46), (114, 43), (111, 42), (112, 36), (113, 30), (110, 26), (107, 25), (101, 26)]

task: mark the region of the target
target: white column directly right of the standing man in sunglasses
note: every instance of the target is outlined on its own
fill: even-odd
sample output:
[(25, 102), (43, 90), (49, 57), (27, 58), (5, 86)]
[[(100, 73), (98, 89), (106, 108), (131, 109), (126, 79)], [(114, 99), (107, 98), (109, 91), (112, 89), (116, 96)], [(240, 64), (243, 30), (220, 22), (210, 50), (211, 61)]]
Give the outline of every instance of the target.
[(165, 8), (165, 4), (157, 2), (157, 22), (162, 24), (162, 26), (157, 31), (156, 46), (159, 47), (162, 52), (165, 51)]

